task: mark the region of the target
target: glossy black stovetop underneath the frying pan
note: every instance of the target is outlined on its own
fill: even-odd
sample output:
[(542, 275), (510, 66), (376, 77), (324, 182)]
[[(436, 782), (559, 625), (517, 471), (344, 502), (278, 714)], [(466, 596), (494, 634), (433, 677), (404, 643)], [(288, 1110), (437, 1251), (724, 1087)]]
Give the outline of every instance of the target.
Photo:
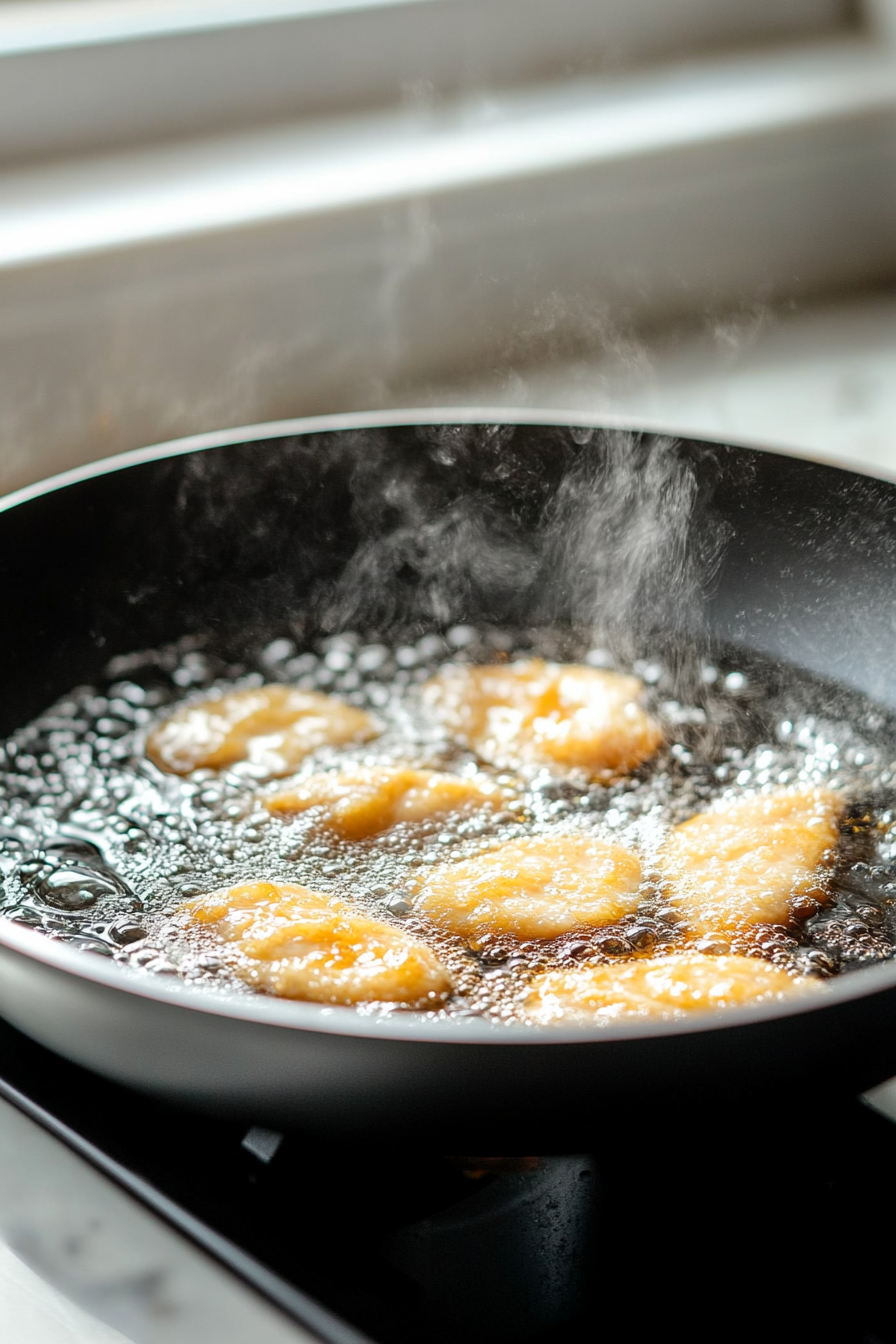
[(326, 1344), (676, 1324), (690, 1341), (896, 1344), (896, 1125), (858, 1101), (708, 1102), (496, 1173), (424, 1136), (348, 1146), (175, 1109), (3, 1023), (0, 1075), (0, 1097)]

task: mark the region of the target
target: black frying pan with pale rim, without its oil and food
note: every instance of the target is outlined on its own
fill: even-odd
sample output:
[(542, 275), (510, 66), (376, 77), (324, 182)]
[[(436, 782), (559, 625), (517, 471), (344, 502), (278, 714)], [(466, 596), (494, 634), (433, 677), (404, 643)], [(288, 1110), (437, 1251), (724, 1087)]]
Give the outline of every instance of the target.
[[(113, 655), (195, 630), (236, 646), (287, 617), (418, 633), (434, 613), (575, 620), (582, 585), (568, 564), (557, 579), (563, 547), (536, 554), (541, 520), (563, 491), (598, 504), (600, 489), (618, 493), (622, 472), (635, 512), (653, 489), (661, 546), (664, 508), (677, 505), (656, 470), (669, 462), (686, 485), (692, 569), (676, 587), (654, 566), (653, 590), (638, 595), (652, 637), (785, 657), (896, 707), (896, 485), (572, 418), (482, 419), (257, 426), (11, 496), (0, 508), (0, 732), (99, 677)], [(634, 516), (613, 513), (623, 556)], [(334, 1136), (427, 1133), (449, 1150), (488, 1150), (498, 1134), (497, 1150), (552, 1150), (603, 1114), (854, 1094), (896, 1074), (896, 962), (837, 977), (811, 1001), (697, 1023), (524, 1028), (226, 1000), (0, 922), (0, 1012), (175, 1102)]]

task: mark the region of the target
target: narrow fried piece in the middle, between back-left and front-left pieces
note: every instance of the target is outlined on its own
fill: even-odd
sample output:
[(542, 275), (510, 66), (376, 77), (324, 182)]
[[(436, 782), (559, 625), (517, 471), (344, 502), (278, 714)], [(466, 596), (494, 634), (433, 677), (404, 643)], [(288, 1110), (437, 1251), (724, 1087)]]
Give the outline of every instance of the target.
[(313, 774), (289, 793), (275, 793), (262, 802), (279, 816), (321, 808), (325, 824), (333, 831), (347, 840), (367, 840), (400, 821), (498, 808), (505, 798), (505, 792), (489, 781), (408, 766), (359, 766), (337, 774)]

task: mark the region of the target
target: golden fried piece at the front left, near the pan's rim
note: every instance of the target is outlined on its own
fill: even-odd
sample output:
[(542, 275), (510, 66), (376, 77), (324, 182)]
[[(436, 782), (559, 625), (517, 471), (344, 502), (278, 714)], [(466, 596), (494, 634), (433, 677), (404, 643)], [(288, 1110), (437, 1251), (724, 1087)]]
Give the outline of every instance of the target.
[(424, 943), (308, 887), (253, 882), (181, 909), (234, 945), (242, 980), (282, 999), (433, 1007), (451, 992)]

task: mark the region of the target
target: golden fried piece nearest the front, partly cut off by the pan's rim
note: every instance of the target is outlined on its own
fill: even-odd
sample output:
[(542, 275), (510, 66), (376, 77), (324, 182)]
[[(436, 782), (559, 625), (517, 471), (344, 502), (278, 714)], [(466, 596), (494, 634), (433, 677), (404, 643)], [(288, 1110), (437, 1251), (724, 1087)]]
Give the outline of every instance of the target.
[(619, 1017), (686, 1017), (713, 1008), (787, 999), (819, 988), (807, 976), (755, 957), (670, 953), (619, 965), (549, 970), (532, 984), (524, 1009), (531, 1021), (594, 1024)]

